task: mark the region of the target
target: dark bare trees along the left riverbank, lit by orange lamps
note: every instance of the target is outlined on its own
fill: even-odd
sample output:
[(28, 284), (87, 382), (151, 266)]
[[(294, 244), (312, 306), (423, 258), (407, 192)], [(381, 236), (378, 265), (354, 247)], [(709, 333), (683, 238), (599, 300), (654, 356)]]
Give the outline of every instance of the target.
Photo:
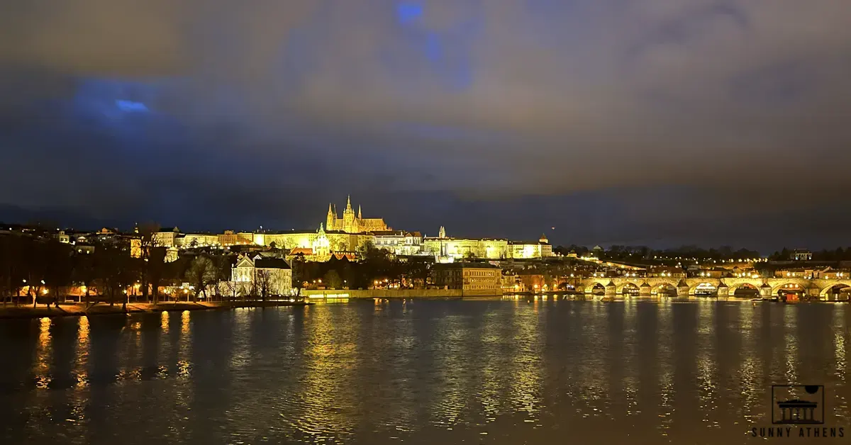
[(140, 240), (139, 252), (131, 255), (126, 239), (93, 240), (94, 251), (87, 253), (53, 237), (0, 237), (0, 298), (3, 304), (49, 305), (77, 288), (83, 302), (122, 302), (126, 309), (131, 297), (157, 303), (161, 286), (198, 284), (185, 295), (197, 299), (208, 284), (231, 277), (231, 255), (201, 253), (165, 262), (166, 248), (154, 246), (153, 231), (141, 233)]

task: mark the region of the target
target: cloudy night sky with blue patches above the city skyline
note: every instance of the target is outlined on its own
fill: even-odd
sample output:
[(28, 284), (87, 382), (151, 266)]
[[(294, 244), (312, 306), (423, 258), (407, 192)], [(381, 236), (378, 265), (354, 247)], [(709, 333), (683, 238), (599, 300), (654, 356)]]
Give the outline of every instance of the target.
[(429, 235), (848, 246), (849, 24), (841, 0), (12, 2), (0, 220), (317, 228), (351, 194)]

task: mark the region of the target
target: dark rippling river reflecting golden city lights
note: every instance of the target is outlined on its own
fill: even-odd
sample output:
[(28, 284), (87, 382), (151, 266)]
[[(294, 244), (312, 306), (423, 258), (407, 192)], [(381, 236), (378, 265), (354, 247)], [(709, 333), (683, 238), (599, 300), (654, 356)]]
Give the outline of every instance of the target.
[(711, 300), (0, 320), (0, 443), (730, 445), (762, 441), (772, 384), (825, 385), (851, 434), (849, 322)]

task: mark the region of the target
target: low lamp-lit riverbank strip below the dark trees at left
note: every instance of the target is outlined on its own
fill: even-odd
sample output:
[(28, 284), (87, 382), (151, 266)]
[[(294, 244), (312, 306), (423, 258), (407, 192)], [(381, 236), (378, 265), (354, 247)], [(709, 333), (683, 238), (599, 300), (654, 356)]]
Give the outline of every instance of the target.
[(81, 303), (60, 303), (59, 307), (38, 305), (7, 305), (0, 307), (0, 319), (2, 318), (43, 318), (43, 317), (82, 317), (93, 315), (144, 313), (162, 311), (209, 311), (229, 310), (248, 307), (277, 307), (277, 306), (303, 306), (311, 305), (307, 302), (292, 301), (214, 301), (214, 302), (166, 302), (157, 305), (151, 303), (130, 303), (125, 312), (121, 304), (109, 305), (98, 303), (87, 305)]

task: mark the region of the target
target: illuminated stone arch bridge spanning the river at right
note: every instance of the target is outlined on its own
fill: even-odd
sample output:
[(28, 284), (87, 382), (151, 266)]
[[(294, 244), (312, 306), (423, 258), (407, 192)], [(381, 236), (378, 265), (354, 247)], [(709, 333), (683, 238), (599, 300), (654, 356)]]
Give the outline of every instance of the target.
[(622, 294), (646, 296), (660, 293), (687, 296), (697, 294), (700, 287), (707, 293), (717, 293), (720, 296), (733, 295), (738, 288), (752, 288), (759, 291), (763, 297), (778, 295), (781, 290), (786, 290), (825, 299), (838, 289), (851, 288), (851, 279), (588, 277), (568, 280), (568, 284), (585, 294), (592, 294), (594, 288), (597, 288), (599, 292), (602, 288), (603, 294), (610, 296)]

